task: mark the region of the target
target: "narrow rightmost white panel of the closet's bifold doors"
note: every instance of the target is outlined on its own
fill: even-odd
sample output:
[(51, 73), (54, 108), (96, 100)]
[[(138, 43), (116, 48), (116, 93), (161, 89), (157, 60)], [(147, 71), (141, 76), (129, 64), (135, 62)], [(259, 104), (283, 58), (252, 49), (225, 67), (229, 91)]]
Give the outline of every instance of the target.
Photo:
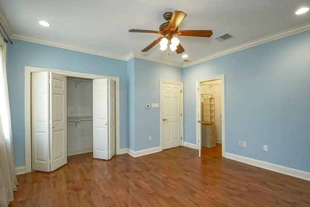
[(115, 81), (109, 79), (109, 159), (115, 155)]

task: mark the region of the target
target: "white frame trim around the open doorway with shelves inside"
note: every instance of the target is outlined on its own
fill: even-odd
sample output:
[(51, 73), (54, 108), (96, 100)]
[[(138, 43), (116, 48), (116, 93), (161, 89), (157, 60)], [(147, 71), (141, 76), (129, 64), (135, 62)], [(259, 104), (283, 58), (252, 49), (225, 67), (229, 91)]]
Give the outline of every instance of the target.
[[(213, 76), (206, 79), (198, 79), (196, 80), (196, 87), (200, 85), (202, 82), (211, 81), (211, 80), (221, 80), (222, 85), (222, 157), (225, 158), (225, 77), (223, 75)], [(197, 91), (197, 89), (196, 89)], [(199, 95), (198, 95), (199, 94)], [(198, 114), (201, 113), (201, 109), (199, 109), (198, 102), (200, 101), (200, 94), (196, 93), (196, 147), (199, 149), (199, 141), (201, 142), (201, 137), (199, 137), (199, 124), (197, 120), (199, 120)]]

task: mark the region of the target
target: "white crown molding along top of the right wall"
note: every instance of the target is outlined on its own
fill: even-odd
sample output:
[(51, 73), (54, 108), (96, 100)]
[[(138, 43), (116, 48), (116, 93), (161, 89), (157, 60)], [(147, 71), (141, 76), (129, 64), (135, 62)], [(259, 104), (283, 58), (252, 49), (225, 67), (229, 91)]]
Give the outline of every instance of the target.
[(190, 62), (187, 64), (183, 64), (183, 68), (191, 66), (191, 65), (195, 65), (195, 64), (200, 64), (200, 63), (203, 63), (203, 62), (206, 62), (206, 61), (209, 61), (209, 60), (212, 60), (212, 59), (224, 56), (224, 55), (228, 55), (228, 54), (231, 54), (233, 52), (237, 52), (237, 51), (240, 51), (243, 49), (247, 49), (247, 48), (251, 48), (251, 47), (254, 47), (257, 45), (261, 45), (261, 44), (264, 44), (267, 42), (271, 42), (271, 41), (274, 41), (274, 40), (277, 40), (277, 39), (280, 39), (283, 37), (287, 37), (287, 36), (290, 36), (290, 35), (293, 35), (293, 34), (296, 34), (299, 32), (305, 32), (307, 30), (310, 30), (310, 23), (302, 24), (302, 25), (299, 25), (297, 27), (290, 28), (288, 30), (276, 32), (276, 33), (264, 36), (262, 38), (259, 38), (259, 39), (238, 45), (238, 46), (233, 47), (233, 48), (228, 48), (228, 49), (219, 51), (217, 53), (205, 56), (204, 58), (198, 59), (196, 61), (193, 61), (193, 62)]

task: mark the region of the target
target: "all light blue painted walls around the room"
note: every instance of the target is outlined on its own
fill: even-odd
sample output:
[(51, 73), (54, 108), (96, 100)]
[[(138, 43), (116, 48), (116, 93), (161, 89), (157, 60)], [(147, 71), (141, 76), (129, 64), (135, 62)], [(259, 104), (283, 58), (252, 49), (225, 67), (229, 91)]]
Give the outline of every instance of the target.
[(226, 152), (310, 172), (309, 37), (301, 32), (183, 70), (14, 40), (7, 76), (16, 167), (25, 165), (24, 68), (34, 66), (119, 77), (120, 148), (134, 151), (160, 146), (159, 108), (145, 108), (159, 103), (160, 79), (184, 82), (184, 139), (195, 143), (195, 81), (224, 74)]

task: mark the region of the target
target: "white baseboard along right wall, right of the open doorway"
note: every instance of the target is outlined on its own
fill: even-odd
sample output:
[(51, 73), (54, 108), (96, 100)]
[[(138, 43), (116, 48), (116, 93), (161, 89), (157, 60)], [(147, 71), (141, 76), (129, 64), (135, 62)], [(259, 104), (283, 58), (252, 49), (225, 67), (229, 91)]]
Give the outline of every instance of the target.
[(294, 168), (289, 168), (289, 167), (273, 164), (270, 162), (265, 162), (265, 161), (258, 160), (258, 159), (247, 158), (244, 156), (235, 155), (235, 154), (228, 153), (228, 152), (225, 153), (225, 158), (233, 159), (233, 160), (243, 162), (249, 165), (254, 165), (256, 167), (264, 168), (267, 170), (275, 171), (275, 172), (282, 173), (285, 175), (291, 175), (294, 177), (298, 177), (298, 178), (310, 181), (310, 172), (297, 170)]

